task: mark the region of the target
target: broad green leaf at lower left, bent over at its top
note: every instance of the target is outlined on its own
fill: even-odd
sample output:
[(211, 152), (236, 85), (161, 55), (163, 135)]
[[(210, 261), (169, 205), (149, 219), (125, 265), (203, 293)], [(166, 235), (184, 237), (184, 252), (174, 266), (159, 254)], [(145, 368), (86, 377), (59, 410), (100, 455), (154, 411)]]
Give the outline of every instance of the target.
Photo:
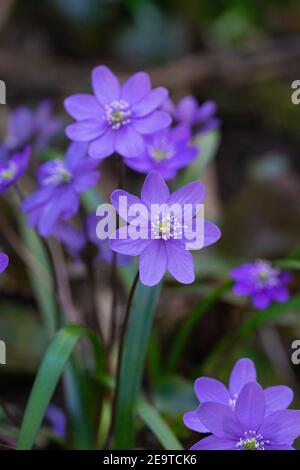
[(51, 341), (42, 360), (25, 410), (17, 448), (32, 448), (59, 378), (80, 338), (87, 336), (94, 348), (97, 373), (103, 369), (99, 337), (80, 325), (67, 325)]

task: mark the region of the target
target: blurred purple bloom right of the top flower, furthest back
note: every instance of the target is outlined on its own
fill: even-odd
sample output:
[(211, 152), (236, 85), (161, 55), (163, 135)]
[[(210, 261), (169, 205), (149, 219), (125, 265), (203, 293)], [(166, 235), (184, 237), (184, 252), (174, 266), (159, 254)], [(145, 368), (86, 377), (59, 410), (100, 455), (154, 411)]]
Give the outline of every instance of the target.
[(185, 96), (177, 106), (171, 99), (167, 99), (163, 109), (171, 114), (175, 121), (196, 127), (198, 134), (204, 134), (220, 126), (216, 118), (217, 105), (214, 101), (205, 101), (199, 105), (194, 96)]

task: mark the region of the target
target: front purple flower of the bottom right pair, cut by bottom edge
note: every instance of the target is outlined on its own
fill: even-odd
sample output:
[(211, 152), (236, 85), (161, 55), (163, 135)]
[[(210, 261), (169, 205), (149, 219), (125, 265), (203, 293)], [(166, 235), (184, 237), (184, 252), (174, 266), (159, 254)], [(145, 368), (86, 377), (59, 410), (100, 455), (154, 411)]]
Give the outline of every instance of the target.
[(294, 450), (300, 436), (300, 411), (278, 410), (266, 414), (266, 399), (261, 386), (246, 384), (235, 409), (216, 402), (200, 406), (198, 415), (212, 433), (192, 450)]

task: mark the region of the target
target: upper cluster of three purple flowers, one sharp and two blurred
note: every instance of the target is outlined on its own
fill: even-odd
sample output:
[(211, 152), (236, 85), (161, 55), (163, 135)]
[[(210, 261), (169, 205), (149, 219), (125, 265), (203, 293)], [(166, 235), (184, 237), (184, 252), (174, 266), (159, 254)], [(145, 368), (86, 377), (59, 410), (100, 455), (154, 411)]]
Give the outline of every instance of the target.
[[(94, 95), (77, 94), (65, 100), (67, 112), (77, 121), (67, 127), (68, 137), (88, 142), (93, 158), (116, 152), (140, 173), (156, 170), (165, 179), (174, 177), (198, 154), (190, 143), (192, 128), (201, 125), (204, 132), (219, 125), (214, 103), (199, 107), (189, 96), (176, 108), (165, 88), (151, 88), (144, 72), (121, 85), (111, 70), (99, 66), (92, 72), (92, 85)], [(171, 115), (182, 125), (172, 128)]]

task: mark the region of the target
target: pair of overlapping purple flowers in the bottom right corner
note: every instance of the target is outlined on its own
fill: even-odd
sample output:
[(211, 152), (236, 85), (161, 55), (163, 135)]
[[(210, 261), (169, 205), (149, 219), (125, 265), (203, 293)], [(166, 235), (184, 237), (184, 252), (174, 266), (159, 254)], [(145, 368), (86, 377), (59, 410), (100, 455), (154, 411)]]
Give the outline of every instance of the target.
[(262, 389), (250, 359), (234, 366), (229, 388), (201, 377), (195, 382), (197, 410), (184, 415), (185, 425), (210, 436), (192, 450), (293, 450), (300, 436), (300, 411), (288, 410), (293, 392), (285, 386)]

